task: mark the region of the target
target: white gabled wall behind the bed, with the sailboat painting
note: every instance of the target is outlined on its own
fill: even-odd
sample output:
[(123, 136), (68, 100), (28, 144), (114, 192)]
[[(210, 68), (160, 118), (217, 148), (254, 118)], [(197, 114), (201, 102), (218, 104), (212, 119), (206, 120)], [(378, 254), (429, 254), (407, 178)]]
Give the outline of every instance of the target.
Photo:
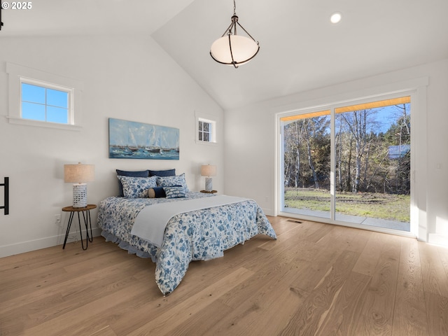
[[(82, 130), (8, 123), (6, 62), (83, 82)], [(216, 116), (218, 146), (196, 144), (195, 111)], [(108, 118), (179, 128), (180, 160), (109, 159)], [(200, 190), (200, 165), (223, 172), (223, 111), (147, 35), (0, 38), (0, 146), (0, 183), (10, 178), (10, 214), (0, 211), (2, 257), (62, 244), (65, 228), (55, 225), (54, 215), (66, 224), (61, 209), (72, 200), (64, 164), (95, 165), (87, 187), (93, 204), (117, 195), (115, 169), (176, 168), (190, 189)], [(214, 188), (223, 190), (223, 174)], [(2, 188), (0, 195), (3, 205)]]

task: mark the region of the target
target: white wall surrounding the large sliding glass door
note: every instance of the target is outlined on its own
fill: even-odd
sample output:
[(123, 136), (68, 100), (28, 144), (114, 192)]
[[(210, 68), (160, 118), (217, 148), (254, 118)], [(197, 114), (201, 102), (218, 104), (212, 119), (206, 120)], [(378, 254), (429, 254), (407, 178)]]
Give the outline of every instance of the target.
[(423, 146), (416, 160), (420, 238), (448, 246), (448, 59), (225, 111), (225, 193), (252, 197), (276, 214), (276, 113), (388, 92), (426, 77), (427, 104), (412, 117), (421, 130), (417, 146)]

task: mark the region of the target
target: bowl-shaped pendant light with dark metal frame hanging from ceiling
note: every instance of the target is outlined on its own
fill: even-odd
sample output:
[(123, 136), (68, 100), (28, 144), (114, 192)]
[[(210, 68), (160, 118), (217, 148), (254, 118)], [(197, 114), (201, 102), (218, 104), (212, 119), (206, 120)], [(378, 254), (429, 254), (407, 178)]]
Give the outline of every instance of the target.
[[(216, 62), (233, 65), (235, 68), (249, 62), (260, 50), (258, 41), (255, 41), (251, 34), (239, 24), (236, 8), (235, 0), (233, 0), (233, 16), (230, 19), (232, 23), (210, 48), (210, 55)], [(248, 37), (237, 35), (237, 26), (243, 29)]]

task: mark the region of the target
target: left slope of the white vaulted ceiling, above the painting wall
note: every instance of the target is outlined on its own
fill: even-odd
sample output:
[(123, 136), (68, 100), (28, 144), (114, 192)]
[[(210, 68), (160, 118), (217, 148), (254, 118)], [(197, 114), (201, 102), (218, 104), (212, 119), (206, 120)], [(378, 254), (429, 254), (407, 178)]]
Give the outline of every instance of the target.
[[(4, 1), (12, 6), (13, 2)], [(152, 34), (193, 0), (34, 0), (2, 10), (1, 36)]]

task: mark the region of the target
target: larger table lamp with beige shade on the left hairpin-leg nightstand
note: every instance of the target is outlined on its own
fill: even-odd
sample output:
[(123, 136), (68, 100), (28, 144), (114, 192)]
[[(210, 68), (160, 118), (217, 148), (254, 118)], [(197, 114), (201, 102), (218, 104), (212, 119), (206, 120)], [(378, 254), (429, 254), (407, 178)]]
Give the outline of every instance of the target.
[(94, 181), (95, 166), (64, 165), (64, 182), (73, 184), (73, 208), (87, 207), (87, 184)]

